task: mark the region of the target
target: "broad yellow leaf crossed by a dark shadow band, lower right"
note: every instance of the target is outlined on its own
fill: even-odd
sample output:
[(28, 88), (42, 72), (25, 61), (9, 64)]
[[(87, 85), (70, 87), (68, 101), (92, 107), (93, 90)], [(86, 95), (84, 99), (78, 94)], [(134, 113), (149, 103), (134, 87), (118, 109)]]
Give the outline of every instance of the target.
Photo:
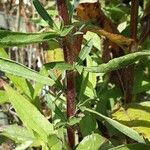
[(129, 126), (150, 140), (150, 102), (131, 103), (112, 114), (113, 119)]

